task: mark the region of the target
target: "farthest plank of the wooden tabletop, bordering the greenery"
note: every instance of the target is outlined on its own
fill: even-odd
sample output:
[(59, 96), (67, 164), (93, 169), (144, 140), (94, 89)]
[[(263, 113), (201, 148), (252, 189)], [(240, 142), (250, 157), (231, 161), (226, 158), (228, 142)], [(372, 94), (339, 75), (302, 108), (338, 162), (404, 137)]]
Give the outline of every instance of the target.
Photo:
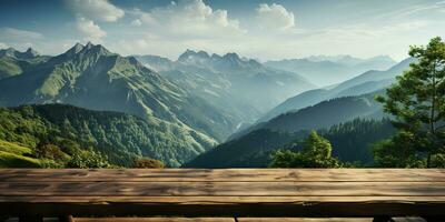
[(445, 169), (1, 169), (12, 181), (369, 181), (445, 182)]

